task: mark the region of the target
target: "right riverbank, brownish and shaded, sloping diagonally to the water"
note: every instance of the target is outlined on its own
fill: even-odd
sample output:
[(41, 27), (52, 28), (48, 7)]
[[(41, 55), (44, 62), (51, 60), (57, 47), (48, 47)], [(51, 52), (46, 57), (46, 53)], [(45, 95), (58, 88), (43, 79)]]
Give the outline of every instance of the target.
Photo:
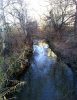
[(58, 60), (66, 63), (77, 75), (77, 42), (74, 36), (63, 36), (61, 39), (48, 39), (50, 48), (57, 55)]

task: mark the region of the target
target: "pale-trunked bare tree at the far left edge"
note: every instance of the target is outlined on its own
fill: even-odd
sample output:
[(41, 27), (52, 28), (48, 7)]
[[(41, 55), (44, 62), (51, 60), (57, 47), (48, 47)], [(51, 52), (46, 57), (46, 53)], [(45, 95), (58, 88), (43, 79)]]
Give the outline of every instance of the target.
[(7, 21), (6, 21), (6, 15), (5, 15), (5, 9), (6, 7), (10, 4), (10, 1), (9, 0), (6, 0), (6, 3), (4, 0), (0, 0), (0, 12), (1, 12), (1, 29), (2, 29), (2, 32), (1, 32), (1, 36), (2, 36), (2, 49), (3, 49), (3, 54), (4, 54), (4, 57), (6, 55), (9, 54), (9, 48), (8, 48), (8, 43), (7, 43), (7, 30), (8, 30), (8, 27), (7, 27)]

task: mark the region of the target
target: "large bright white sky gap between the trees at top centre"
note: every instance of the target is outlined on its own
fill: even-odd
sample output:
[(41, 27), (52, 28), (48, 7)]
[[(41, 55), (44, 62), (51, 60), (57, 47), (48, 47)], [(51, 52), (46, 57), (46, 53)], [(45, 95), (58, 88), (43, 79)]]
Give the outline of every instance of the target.
[(27, 4), (29, 15), (38, 22), (47, 14), (49, 9), (47, 0), (27, 0)]

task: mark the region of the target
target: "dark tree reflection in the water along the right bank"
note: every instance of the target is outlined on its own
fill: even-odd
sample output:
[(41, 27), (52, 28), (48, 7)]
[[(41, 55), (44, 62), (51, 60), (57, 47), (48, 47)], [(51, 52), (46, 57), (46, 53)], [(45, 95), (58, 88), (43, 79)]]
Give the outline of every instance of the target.
[(55, 89), (61, 94), (61, 96), (57, 95), (57, 100), (75, 100), (74, 80), (71, 69), (64, 63), (57, 62), (51, 69), (51, 75)]

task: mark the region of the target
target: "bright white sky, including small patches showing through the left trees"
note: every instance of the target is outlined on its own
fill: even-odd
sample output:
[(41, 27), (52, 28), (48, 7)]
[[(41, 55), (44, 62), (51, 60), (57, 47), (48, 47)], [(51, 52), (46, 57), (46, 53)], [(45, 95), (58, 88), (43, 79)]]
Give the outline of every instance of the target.
[[(7, 0), (5, 0), (6, 2)], [(37, 20), (38, 23), (43, 23), (43, 18), (47, 14), (47, 10), (49, 9), (49, 3), (47, 0), (22, 0), (23, 6), (27, 8), (28, 16), (33, 19)], [(6, 5), (6, 3), (5, 3)], [(19, 6), (16, 4), (16, 8)], [(13, 22), (13, 17), (9, 14), (11, 11), (12, 6), (6, 8), (6, 20), (9, 22)]]

